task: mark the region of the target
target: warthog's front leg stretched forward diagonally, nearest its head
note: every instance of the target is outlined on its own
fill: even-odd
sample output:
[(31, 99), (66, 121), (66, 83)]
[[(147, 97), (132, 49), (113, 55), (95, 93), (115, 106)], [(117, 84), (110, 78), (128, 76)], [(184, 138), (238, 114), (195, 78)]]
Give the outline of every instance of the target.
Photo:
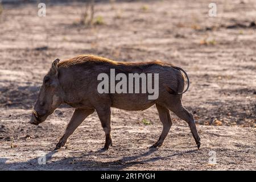
[(68, 123), (65, 134), (60, 138), (59, 142), (56, 144), (55, 150), (63, 147), (67, 142), (68, 137), (81, 125), (88, 115), (92, 114), (94, 109), (76, 109), (72, 115), (71, 121)]

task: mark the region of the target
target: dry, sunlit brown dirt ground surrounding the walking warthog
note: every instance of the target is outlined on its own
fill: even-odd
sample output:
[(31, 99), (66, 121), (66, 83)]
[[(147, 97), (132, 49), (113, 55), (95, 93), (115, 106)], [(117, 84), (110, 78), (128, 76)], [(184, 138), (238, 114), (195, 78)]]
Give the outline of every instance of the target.
[[(0, 15), (0, 169), (226, 170), (256, 169), (256, 2), (131, 1), (96, 3), (96, 24), (81, 25), (82, 3), (4, 4)], [(201, 148), (174, 114), (158, 150), (162, 124), (155, 106), (112, 109), (113, 147), (94, 113), (52, 152), (73, 109), (61, 106), (39, 126), (28, 123), (52, 61), (80, 54), (119, 61), (163, 60), (187, 71), (183, 104), (196, 119)], [(142, 119), (150, 121), (144, 125)], [(38, 159), (46, 155), (46, 164)], [(214, 159), (213, 159), (214, 158)], [(211, 163), (216, 159), (216, 164)]]

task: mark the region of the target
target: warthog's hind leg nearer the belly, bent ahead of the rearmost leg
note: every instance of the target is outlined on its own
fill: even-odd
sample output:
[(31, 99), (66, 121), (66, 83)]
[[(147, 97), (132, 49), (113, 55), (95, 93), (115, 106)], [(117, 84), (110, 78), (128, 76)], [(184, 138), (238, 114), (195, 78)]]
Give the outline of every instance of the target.
[(158, 104), (156, 104), (156, 108), (158, 109), (160, 121), (163, 123), (163, 131), (158, 141), (155, 144), (153, 144), (150, 148), (162, 146), (163, 141), (167, 137), (172, 126), (172, 119), (170, 117), (169, 110), (166, 107), (160, 106)]

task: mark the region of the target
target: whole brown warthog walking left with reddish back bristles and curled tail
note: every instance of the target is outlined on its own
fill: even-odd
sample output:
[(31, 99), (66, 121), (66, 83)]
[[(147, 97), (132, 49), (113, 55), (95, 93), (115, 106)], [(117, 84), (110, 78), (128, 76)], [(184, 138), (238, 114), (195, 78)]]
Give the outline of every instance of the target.
[[(148, 93), (98, 93), (97, 86), (100, 83), (98, 75), (100, 73), (110, 75), (110, 69), (115, 69), (115, 72), (125, 75), (129, 73), (159, 73), (159, 97), (155, 100), (148, 100)], [(32, 110), (30, 123), (34, 125), (42, 123), (61, 104), (75, 107), (65, 134), (56, 144), (55, 150), (57, 150), (64, 146), (68, 137), (84, 119), (96, 110), (105, 131), (103, 149), (108, 150), (109, 146), (112, 146), (110, 107), (145, 110), (156, 105), (160, 121), (163, 123), (163, 131), (158, 141), (151, 147), (162, 146), (172, 126), (169, 113), (171, 110), (177, 117), (188, 123), (199, 148), (200, 137), (193, 115), (181, 103), (185, 85), (185, 79), (181, 72), (188, 80), (187, 89), (184, 91), (186, 92), (189, 87), (187, 73), (179, 67), (162, 61), (124, 63), (93, 55), (80, 55), (64, 61), (56, 59), (44, 76), (43, 85)]]

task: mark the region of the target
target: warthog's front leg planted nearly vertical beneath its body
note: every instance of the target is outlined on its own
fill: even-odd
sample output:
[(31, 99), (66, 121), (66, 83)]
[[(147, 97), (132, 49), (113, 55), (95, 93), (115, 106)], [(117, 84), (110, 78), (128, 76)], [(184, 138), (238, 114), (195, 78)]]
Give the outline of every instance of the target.
[(98, 117), (100, 118), (101, 125), (105, 132), (106, 141), (103, 150), (108, 150), (109, 146), (112, 146), (112, 137), (111, 137), (111, 111), (110, 106), (103, 106), (101, 108), (96, 108)]

